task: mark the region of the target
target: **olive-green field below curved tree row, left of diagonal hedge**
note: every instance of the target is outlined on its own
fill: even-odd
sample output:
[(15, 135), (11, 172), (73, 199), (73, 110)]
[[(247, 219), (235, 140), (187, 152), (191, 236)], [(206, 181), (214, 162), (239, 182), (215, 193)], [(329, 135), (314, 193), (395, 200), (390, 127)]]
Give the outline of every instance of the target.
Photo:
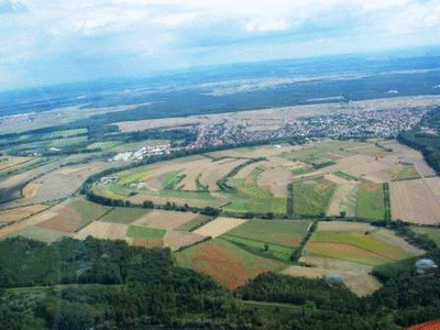
[(296, 248), (307, 234), (311, 221), (250, 220), (228, 232), (243, 239)]

